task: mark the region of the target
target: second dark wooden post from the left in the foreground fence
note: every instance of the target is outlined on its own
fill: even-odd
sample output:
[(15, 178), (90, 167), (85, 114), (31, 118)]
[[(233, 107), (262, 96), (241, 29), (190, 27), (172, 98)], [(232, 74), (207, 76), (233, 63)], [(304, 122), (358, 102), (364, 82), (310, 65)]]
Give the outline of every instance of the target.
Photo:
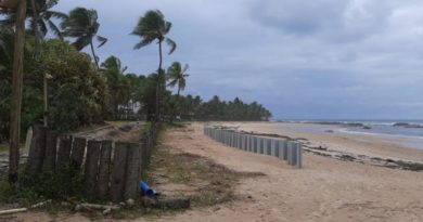
[(57, 133), (53, 131), (47, 131), (46, 153), (44, 153), (44, 160), (42, 165), (43, 172), (54, 171), (56, 152), (57, 152)]

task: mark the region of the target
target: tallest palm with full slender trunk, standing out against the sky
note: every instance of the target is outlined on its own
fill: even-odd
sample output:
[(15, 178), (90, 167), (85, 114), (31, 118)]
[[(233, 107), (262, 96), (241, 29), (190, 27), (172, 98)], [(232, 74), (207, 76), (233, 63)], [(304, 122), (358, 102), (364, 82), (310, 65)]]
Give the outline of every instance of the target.
[[(139, 50), (145, 45), (151, 44), (153, 41), (157, 40), (158, 44), (158, 78), (156, 83), (156, 115), (155, 120), (159, 120), (159, 93), (161, 93), (161, 80), (163, 80), (164, 70), (162, 69), (163, 55), (162, 55), (162, 43), (166, 43), (170, 47), (169, 54), (176, 50), (176, 43), (166, 35), (170, 31), (171, 23), (165, 21), (165, 16), (158, 10), (151, 10), (145, 12), (144, 16), (140, 17), (137, 26), (133, 28), (132, 35), (139, 36), (141, 38), (133, 49)], [(166, 87), (166, 84), (164, 86)]]

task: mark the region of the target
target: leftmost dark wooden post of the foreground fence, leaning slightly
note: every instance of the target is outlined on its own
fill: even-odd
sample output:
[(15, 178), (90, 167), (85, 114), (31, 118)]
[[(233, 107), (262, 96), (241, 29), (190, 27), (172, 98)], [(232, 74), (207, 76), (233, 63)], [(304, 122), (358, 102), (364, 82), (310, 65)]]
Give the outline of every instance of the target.
[(42, 160), (46, 153), (46, 133), (47, 128), (44, 127), (35, 127), (34, 136), (30, 144), (29, 155), (28, 155), (28, 171), (31, 174), (38, 174), (42, 169)]

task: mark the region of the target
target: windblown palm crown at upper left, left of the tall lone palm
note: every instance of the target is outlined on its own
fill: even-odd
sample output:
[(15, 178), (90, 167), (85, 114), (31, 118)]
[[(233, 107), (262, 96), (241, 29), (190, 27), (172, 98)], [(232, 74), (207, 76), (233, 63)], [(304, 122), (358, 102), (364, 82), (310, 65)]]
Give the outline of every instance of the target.
[(99, 18), (95, 10), (87, 10), (85, 8), (76, 8), (69, 12), (68, 17), (62, 22), (63, 35), (66, 37), (76, 38), (73, 43), (77, 50), (82, 50), (87, 45), (91, 47), (92, 57), (94, 58), (97, 68), (99, 66), (99, 58), (95, 55), (93, 47), (93, 38), (97, 37), (100, 44), (98, 48), (103, 47), (107, 39), (97, 35), (100, 24), (97, 22)]

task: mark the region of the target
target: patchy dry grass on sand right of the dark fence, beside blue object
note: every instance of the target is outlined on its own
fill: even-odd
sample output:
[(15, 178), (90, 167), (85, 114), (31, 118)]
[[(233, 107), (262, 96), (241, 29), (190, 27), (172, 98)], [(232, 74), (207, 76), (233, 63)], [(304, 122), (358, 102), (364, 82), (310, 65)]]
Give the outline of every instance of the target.
[(162, 148), (152, 156), (150, 169), (153, 170), (149, 170), (149, 182), (153, 186), (158, 182), (191, 187), (192, 191), (181, 191), (178, 196), (189, 197), (192, 207), (207, 207), (234, 200), (234, 187), (239, 180), (262, 175), (232, 171), (197, 155), (174, 154)]

